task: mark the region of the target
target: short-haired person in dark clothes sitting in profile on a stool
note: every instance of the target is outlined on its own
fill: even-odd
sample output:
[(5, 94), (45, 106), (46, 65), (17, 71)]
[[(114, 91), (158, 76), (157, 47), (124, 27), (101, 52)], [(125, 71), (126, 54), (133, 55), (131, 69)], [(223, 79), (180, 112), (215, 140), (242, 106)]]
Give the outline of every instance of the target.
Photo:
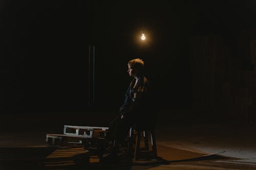
[(129, 76), (134, 77), (125, 93), (125, 100), (117, 115), (109, 125), (108, 138), (111, 140), (111, 150), (101, 162), (117, 162), (120, 143), (124, 142), (127, 132), (134, 126), (151, 124), (153, 108), (152, 85), (144, 76), (144, 62), (137, 58), (127, 63)]

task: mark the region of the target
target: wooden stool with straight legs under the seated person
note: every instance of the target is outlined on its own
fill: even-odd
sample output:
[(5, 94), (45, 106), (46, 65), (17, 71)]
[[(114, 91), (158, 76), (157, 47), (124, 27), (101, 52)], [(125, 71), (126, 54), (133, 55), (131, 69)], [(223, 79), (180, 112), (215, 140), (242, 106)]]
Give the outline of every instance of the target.
[[(151, 146), (152, 146), (152, 154), (154, 158), (157, 157), (157, 146), (156, 146), (156, 136), (155, 136), (155, 130), (134, 130), (132, 127), (130, 129), (130, 134), (129, 134), (129, 152), (132, 153), (134, 150), (134, 159), (138, 160), (138, 155), (139, 155), (139, 149), (140, 149), (140, 140), (141, 140), (141, 133), (143, 133), (143, 138), (144, 138), (144, 145), (145, 149), (147, 151), (150, 151), (150, 147), (148, 145), (148, 138), (150, 135), (150, 141), (151, 141)], [(135, 138), (135, 141), (133, 140)], [(135, 148), (133, 149), (133, 144), (135, 142)]]

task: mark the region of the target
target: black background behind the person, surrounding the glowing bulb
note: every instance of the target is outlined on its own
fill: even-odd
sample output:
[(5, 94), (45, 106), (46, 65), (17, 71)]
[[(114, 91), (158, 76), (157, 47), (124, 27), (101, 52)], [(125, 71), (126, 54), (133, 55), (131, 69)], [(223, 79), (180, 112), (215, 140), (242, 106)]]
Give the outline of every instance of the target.
[[(1, 1), (1, 113), (83, 111), (88, 45), (96, 47), (95, 108), (118, 110), (141, 58), (161, 108), (191, 108), (189, 38), (220, 35), (243, 57), (255, 1)], [(139, 41), (141, 31), (146, 42)], [(246, 67), (246, 62), (242, 63)]]

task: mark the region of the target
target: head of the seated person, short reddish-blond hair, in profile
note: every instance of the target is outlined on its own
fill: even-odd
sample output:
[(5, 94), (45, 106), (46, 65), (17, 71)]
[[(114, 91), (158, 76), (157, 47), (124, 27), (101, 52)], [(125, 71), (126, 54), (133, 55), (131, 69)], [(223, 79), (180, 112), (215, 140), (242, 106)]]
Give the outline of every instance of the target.
[(144, 73), (144, 62), (139, 59), (133, 59), (128, 62), (128, 70), (130, 76), (140, 76)]

